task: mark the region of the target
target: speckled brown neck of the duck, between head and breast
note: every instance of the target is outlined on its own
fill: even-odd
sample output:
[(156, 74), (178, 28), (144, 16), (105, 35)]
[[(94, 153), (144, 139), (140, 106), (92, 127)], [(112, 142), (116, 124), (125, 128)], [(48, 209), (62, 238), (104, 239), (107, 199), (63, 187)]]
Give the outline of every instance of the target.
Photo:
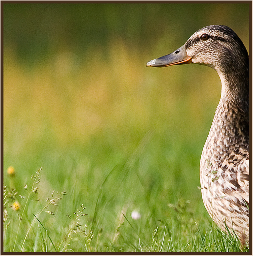
[[(218, 72), (219, 73), (219, 72)], [(249, 148), (249, 71), (219, 73), (221, 98), (217, 106), (211, 137), (224, 142), (226, 154), (240, 148)]]

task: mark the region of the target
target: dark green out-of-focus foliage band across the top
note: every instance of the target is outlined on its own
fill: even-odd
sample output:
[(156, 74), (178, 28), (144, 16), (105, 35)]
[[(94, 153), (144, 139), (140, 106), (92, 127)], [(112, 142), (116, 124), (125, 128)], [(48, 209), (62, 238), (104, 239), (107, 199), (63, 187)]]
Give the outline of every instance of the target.
[[(247, 3), (4, 3), (4, 43), (20, 58), (72, 51), (85, 58), (91, 46), (103, 49), (121, 38), (130, 50), (170, 51), (196, 30), (227, 25), (248, 46)], [(84, 60), (83, 60), (84, 61)]]

